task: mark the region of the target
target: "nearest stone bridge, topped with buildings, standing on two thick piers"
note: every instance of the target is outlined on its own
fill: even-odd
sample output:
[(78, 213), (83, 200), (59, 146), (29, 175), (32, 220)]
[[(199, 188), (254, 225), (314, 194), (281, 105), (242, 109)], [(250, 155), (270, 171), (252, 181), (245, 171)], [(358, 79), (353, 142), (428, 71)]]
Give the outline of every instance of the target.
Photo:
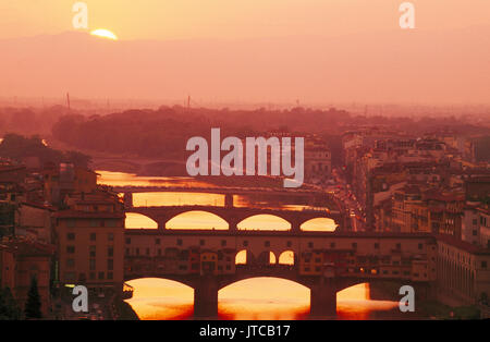
[[(221, 273), (216, 268), (213, 273), (203, 268), (193, 272), (188, 254), (184, 258), (173, 254), (166, 259), (172, 251), (192, 253), (193, 248), (204, 254), (228, 249), (230, 259), (217, 262), (233, 267)], [(195, 315), (200, 317), (217, 315), (219, 290), (248, 278), (274, 277), (303, 284), (310, 290), (311, 315), (320, 317), (334, 317), (336, 293), (358, 283), (399, 281), (426, 289), (416, 289), (420, 295), (436, 280), (436, 240), (425, 233), (126, 230), (125, 251), (125, 281), (155, 277), (187, 284), (194, 289)], [(240, 265), (236, 258), (243, 251), (247, 257), (245, 265)], [(284, 252), (293, 254), (292, 265), (280, 264), (279, 256)], [(273, 253), (275, 262), (248, 258), (248, 253)], [(305, 262), (317, 262), (316, 253), (323, 255), (323, 261), (310, 264), (319, 268), (315, 273), (307, 272)], [(199, 255), (196, 254), (196, 262), (204, 265), (203, 254)], [(332, 266), (330, 256), (340, 256), (340, 264)], [(170, 262), (159, 269), (156, 260)], [(143, 267), (132, 267), (137, 262)], [(176, 265), (185, 265), (186, 270), (173, 267)]]

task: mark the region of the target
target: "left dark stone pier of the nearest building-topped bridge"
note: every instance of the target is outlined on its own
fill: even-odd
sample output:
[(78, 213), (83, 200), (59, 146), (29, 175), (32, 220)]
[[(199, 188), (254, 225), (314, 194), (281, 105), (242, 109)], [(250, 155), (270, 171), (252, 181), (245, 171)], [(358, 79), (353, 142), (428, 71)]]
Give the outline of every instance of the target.
[(218, 316), (218, 290), (212, 274), (199, 278), (194, 286), (194, 317), (209, 319)]

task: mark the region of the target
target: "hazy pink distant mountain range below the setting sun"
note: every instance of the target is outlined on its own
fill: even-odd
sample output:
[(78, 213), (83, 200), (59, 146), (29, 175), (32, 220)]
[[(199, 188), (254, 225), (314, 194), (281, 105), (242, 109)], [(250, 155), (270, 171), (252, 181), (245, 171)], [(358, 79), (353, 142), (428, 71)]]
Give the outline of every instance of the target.
[(0, 96), (236, 101), (481, 102), (490, 27), (343, 37), (0, 40)]

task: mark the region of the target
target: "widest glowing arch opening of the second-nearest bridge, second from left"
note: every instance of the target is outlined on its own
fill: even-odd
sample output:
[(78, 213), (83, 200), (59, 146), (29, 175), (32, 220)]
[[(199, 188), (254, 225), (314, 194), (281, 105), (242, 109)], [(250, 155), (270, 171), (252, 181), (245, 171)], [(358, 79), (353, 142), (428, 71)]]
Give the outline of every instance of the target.
[(221, 216), (204, 210), (187, 210), (173, 216), (166, 229), (228, 230), (229, 222)]

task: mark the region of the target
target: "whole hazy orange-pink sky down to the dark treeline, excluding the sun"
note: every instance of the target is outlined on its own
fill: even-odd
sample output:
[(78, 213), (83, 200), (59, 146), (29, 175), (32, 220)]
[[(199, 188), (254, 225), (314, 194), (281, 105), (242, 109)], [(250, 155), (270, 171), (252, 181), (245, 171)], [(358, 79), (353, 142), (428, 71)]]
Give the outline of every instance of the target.
[(75, 2), (0, 0), (0, 100), (490, 105), (489, 0), (85, 0), (115, 42)]

